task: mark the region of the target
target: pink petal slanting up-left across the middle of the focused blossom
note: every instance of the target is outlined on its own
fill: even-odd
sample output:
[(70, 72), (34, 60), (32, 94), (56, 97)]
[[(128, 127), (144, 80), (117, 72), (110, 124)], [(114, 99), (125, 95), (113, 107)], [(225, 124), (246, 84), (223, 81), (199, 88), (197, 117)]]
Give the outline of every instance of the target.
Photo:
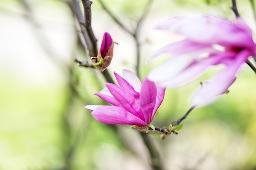
[(116, 84), (106, 83), (106, 86), (124, 109), (139, 117), (141, 120), (144, 120), (144, 115), (139, 104), (136, 103), (137, 101), (135, 101), (135, 98), (128, 91)]

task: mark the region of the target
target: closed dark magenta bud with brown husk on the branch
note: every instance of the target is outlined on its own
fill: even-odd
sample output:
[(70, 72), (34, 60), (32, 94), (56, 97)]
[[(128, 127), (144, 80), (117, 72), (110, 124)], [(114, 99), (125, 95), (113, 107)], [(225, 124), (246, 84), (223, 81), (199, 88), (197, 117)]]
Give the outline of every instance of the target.
[(91, 58), (93, 65), (99, 71), (104, 71), (110, 65), (113, 57), (114, 44), (115, 42), (112, 40), (110, 34), (104, 33), (97, 57)]

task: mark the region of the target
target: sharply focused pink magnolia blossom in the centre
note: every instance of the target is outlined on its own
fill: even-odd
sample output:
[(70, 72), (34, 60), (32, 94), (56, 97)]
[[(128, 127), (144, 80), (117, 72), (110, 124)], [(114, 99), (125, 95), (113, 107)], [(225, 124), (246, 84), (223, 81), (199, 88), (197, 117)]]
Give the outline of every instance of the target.
[(123, 70), (124, 78), (114, 73), (119, 84), (106, 83), (95, 95), (114, 106), (87, 105), (92, 116), (103, 124), (148, 126), (164, 99), (165, 88), (159, 88), (147, 78), (142, 83), (131, 71)]

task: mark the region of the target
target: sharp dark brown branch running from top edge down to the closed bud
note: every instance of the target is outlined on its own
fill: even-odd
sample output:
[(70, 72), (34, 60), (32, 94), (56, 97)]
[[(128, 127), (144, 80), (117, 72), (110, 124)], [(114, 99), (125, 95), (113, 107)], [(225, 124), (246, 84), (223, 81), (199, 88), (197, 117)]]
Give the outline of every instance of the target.
[(98, 49), (97, 49), (97, 39), (94, 36), (94, 33), (92, 31), (92, 2), (90, 0), (81, 0), (83, 4), (83, 12), (84, 12), (84, 26), (85, 29), (90, 37), (90, 40), (92, 42), (92, 46), (90, 46), (89, 51), (91, 51), (90, 55), (93, 57), (97, 56)]

